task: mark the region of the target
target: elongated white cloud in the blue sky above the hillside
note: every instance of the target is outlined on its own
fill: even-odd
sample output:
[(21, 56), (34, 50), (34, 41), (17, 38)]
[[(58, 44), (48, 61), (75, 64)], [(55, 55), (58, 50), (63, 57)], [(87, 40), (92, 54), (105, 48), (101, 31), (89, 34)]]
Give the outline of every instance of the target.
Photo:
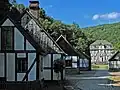
[(92, 19), (97, 20), (97, 19), (117, 19), (120, 18), (120, 13), (118, 12), (112, 12), (112, 13), (107, 13), (107, 14), (95, 14)]

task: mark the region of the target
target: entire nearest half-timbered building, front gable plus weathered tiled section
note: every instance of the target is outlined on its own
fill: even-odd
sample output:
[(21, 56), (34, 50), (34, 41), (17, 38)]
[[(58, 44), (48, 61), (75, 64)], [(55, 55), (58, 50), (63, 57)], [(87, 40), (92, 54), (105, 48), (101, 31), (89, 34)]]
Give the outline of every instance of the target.
[[(39, 4), (38, 1), (30, 3)], [(0, 78), (5, 81), (56, 80), (53, 61), (57, 58), (63, 60), (63, 50), (42, 28), (34, 14), (16, 12), (16, 9), (14, 13), (11, 10), (1, 17)], [(48, 70), (44, 67), (46, 62), (52, 62), (46, 66)], [(63, 78), (63, 73), (60, 75)]]

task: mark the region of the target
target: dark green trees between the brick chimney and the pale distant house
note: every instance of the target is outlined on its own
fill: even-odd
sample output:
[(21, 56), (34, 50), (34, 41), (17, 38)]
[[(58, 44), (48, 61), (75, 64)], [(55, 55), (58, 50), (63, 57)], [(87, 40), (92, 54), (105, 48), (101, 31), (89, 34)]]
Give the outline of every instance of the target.
[(40, 9), (40, 23), (55, 40), (62, 34), (78, 51), (87, 53), (90, 43), (94, 40), (92, 35), (89, 38), (86, 37), (75, 22), (65, 24), (60, 20), (55, 20), (47, 16), (44, 9)]

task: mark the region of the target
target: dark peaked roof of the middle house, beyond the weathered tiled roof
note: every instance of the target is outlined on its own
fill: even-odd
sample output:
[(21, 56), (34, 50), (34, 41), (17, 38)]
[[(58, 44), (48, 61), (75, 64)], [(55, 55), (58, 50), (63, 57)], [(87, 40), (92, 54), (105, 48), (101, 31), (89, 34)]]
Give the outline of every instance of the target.
[(61, 35), (56, 40), (56, 42), (64, 50), (64, 52), (67, 53), (69, 56), (80, 56), (80, 57), (90, 59), (90, 57), (84, 54), (83, 52), (77, 52), (63, 35)]

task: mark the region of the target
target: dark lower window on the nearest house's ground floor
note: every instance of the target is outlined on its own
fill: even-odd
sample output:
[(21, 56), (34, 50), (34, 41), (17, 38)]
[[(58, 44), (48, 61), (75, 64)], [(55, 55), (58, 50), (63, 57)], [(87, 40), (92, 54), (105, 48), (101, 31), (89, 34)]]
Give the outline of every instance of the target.
[(28, 61), (26, 58), (17, 58), (17, 72), (25, 73), (28, 70)]

